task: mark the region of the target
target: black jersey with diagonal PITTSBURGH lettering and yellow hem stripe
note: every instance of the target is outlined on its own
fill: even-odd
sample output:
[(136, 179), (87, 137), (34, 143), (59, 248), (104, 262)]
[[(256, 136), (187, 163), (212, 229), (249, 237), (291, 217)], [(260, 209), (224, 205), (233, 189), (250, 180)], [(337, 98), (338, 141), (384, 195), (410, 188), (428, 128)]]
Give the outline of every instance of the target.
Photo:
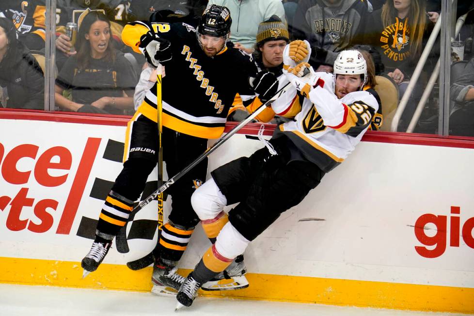
[[(139, 52), (140, 36), (149, 30), (171, 42), (173, 58), (163, 63), (163, 126), (201, 138), (219, 138), (224, 131), (229, 109), (238, 93), (248, 105), (253, 101), (249, 76), (257, 72), (252, 56), (239, 49), (225, 47), (208, 57), (201, 48), (196, 30), (177, 22), (132, 22), (122, 32), (124, 43)], [(138, 111), (157, 120), (156, 85), (147, 92)]]

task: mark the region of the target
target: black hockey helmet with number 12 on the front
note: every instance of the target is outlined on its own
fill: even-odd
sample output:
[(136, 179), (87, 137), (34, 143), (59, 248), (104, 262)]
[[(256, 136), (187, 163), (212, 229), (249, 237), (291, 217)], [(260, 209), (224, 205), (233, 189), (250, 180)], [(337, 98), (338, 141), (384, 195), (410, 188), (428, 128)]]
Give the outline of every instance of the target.
[(232, 18), (224, 6), (212, 4), (205, 9), (199, 21), (198, 32), (209, 36), (226, 36), (230, 32)]

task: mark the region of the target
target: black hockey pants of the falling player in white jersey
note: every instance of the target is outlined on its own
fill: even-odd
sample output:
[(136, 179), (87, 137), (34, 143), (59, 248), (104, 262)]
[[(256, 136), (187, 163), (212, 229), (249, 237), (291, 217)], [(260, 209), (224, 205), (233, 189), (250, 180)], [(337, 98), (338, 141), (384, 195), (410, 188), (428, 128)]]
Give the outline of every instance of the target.
[(286, 137), (270, 143), (278, 155), (271, 156), (262, 148), (211, 173), (227, 204), (240, 202), (229, 212), (229, 221), (251, 241), (281, 213), (298, 205), (325, 174), (312, 162), (291, 160), (290, 150), (297, 149)]

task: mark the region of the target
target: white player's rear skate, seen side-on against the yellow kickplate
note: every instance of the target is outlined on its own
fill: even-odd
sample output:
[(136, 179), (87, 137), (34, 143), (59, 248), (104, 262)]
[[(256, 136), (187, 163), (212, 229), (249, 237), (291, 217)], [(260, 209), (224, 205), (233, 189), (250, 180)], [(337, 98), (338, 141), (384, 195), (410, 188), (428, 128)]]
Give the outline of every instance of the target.
[(204, 291), (240, 290), (249, 287), (245, 277), (247, 268), (244, 264), (244, 256), (237, 256), (224, 271), (216, 275), (212, 280), (203, 284)]

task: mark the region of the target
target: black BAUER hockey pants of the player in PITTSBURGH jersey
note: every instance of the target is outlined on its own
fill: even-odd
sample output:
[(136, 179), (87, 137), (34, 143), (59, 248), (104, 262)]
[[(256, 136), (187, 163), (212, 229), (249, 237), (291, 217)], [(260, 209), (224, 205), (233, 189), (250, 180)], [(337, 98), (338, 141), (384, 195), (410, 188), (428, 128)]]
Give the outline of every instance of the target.
[[(131, 201), (142, 193), (148, 175), (157, 165), (157, 124), (144, 116), (133, 122), (129, 133), (128, 159), (115, 180), (112, 191)], [(177, 133), (163, 127), (163, 160), (169, 177), (180, 172), (195, 158), (204, 153), (207, 139)], [(138, 149), (137, 149), (138, 148)], [(147, 150), (149, 149), (149, 150)], [(133, 150), (133, 151), (132, 151)], [(169, 220), (182, 227), (194, 227), (199, 219), (191, 206), (191, 195), (207, 173), (207, 158), (176, 181), (166, 193), (172, 196), (172, 211)]]

